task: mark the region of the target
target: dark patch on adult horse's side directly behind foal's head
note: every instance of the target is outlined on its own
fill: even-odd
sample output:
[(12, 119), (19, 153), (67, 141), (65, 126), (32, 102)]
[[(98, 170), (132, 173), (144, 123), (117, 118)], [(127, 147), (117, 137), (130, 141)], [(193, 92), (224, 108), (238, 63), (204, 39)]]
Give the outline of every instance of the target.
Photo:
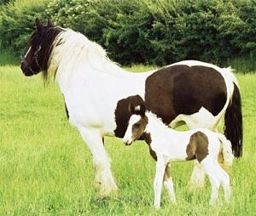
[(131, 117), (131, 111), (129, 109), (130, 105), (143, 105), (144, 101), (139, 95), (132, 95), (125, 99), (120, 99), (117, 103), (116, 109), (114, 111), (116, 129), (114, 134), (116, 137), (123, 138), (125, 136), (125, 131), (128, 127), (128, 122)]

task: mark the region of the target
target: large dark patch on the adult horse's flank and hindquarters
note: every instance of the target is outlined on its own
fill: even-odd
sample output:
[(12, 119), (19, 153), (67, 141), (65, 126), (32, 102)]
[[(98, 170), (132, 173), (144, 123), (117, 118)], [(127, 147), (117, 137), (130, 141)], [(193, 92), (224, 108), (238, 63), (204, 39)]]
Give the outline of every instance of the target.
[(202, 106), (217, 116), (226, 99), (224, 78), (207, 66), (173, 65), (155, 71), (146, 80), (146, 107), (166, 124), (179, 114), (194, 114)]

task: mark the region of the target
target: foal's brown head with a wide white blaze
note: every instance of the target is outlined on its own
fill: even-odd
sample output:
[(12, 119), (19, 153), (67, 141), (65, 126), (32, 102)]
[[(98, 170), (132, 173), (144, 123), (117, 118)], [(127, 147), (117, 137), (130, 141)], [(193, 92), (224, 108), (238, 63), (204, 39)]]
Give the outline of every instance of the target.
[(148, 117), (145, 115), (145, 105), (130, 104), (131, 117), (124, 136), (125, 145), (131, 145), (133, 141), (141, 138), (148, 124)]

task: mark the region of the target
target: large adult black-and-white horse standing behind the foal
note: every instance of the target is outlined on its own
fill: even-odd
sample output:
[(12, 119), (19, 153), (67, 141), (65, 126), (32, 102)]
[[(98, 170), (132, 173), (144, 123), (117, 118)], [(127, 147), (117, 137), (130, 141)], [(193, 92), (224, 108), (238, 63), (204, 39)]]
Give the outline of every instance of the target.
[[(63, 94), (68, 121), (92, 153), (96, 187), (102, 196), (117, 190), (104, 136), (123, 138), (131, 117), (129, 104), (141, 99), (149, 111), (175, 128), (217, 130), (224, 117), (224, 134), (237, 157), (242, 153), (241, 95), (230, 68), (195, 60), (159, 70), (132, 73), (108, 58), (102, 46), (83, 34), (36, 19), (20, 68), (26, 77), (43, 73), (45, 83), (56, 80)], [(192, 185), (203, 182), (195, 164)]]

